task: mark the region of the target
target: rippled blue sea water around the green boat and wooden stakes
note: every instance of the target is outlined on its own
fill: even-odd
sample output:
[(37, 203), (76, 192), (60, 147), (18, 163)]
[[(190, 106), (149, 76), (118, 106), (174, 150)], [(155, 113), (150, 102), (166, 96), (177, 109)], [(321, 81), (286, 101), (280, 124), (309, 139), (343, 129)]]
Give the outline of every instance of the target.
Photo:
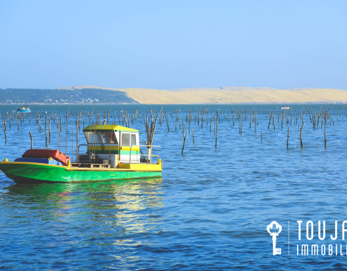
[[(347, 220), (347, 110), (346, 105), (291, 105), (289, 124), (278, 123), (277, 105), (219, 105), (208, 108), (201, 128), (194, 122), (199, 106), (163, 106), (169, 117), (157, 124), (153, 144), (164, 163), (162, 179), (97, 183), (43, 183), (17, 185), (0, 173), (0, 268), (9, 270), (251, 270), (344, 269), (346, 244), (342, 222)], [(37, 130), (36, 113), (71, 113), (111, 110), (160, 110), (161, 106), (31, 106), (32, 117), (23, 124), (15, 119), (5, 145), (0, 129), (0, 159), (10, 161), (30, 148), (45, 147), (44, 117)], [(183, 131), (175, 129), (176, 113), (186, 120), (193, 110), (191, 129), (181, 155)], [(239, 121), (232, 125), (231, 108), (247, 108), (247, 120), (239, 135)], [(251, 122), (255, 109), (259, 124)], [(316, 130), (313, 113), (328, 109), (324, 148), (324, 126)], [(0, 106), (1, 126), (6, 112), (15, 106)], [(305, 109), (303, 149), (295, 117)], [(268, 128), (269, 110), (275, 113), (276, 130)], [(211, 113), (219, 112), (217, 149)], [(173, 117), (171, 118), (171, 113)], [(245, 116), (245, 113), (244, 113)], [(290, 124), (290, 118), (291, 124)], [(205, 117), (206, 119), (206, 117)], [(95, 121), (95, 117), (94, 117)], [(110, 120), (111, 122), (111, 120)], [(117, 124), (119, 123), (117, 117)], [(87, 121), (85, 121), (87, 125)], [(72, 124), (69, 124), (71, 128)], [(143, 120), (130, 126), (146, 140)], [(287, 132), (289, 131), (289, 150)], [(185, 123), (185, 129), (188, 124)], [(66, 126), (62, 124), (62, 131)], [(64, 133), (64, 132), (63, 132)], [(262, 138), (261, 138), (262, 133)], [(76, 126), (74, 126), (76, 135)], [(67, 154), (71, 156), (71, 130)], [(62, 136), (64, 138), (64, 136)], [(262, 140), (262, 142), (261, 142)], [(80, 133), (79, 144), (83, 143)], [(74, 142), (74, 146), (76, 143)], [(56, 123), (51, 124), (50, 148), (58, 147)], [(65, 151), (65, 140), (61, 150)], [(282, 225), (273, 256), (272, 239), (266, 226)], [(298, 240), (298, 223), (302, 236)], [(314, 223), (314, 238), (307, 240), (306, 222)], [(326, 222), (326, 238), (318, 238), (318, 221)], [(338, 221), (337, 239), (335, 220)], [(346, 227), (347, 228), (347, 227)], [(310, 230), (309, 230), (310, 233)], [(310, 234), (309, 234), (310, 237)], [(302, 244), (326, 245), (326, 254), (297, 255)], [(328, 245), (344, 247), (341, 255), (328, 255)], [(340, 250), (338, 252), (340, 254)]]

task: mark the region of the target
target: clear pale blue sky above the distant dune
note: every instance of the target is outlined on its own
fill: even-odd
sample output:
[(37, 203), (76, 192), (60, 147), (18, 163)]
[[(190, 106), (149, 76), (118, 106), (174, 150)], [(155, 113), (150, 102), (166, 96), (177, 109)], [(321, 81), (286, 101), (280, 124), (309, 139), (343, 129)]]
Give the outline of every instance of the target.
[(0, 88), (347, 90), (344, 0), (0, 0)]

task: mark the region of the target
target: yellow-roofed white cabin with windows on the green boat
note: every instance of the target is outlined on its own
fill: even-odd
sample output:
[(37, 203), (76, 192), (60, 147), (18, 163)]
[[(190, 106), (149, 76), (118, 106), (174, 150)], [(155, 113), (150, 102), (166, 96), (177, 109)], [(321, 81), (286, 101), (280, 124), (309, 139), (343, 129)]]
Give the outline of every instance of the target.
[[(120, 125), (89, 125), (83, 129), (87, 140), (87, 156), (78, 156), (79, 163), (140, 163), (139, 131)], [(81, 146), (81, 145), (80, 145)]]

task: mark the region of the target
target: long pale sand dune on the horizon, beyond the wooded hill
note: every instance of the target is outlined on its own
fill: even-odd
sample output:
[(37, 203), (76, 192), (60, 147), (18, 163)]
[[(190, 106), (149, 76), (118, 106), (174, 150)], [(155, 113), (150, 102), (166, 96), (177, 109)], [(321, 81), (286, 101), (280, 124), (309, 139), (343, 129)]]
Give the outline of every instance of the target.
[[(64, 88), (100, 88), (93, 85)], [(141, 104), (303, 104), (347, 103), (347, 90), (330, 88), (182, 88), (178, 90), (152, 90), (144, 88), (102, 88), (120, 90)]]

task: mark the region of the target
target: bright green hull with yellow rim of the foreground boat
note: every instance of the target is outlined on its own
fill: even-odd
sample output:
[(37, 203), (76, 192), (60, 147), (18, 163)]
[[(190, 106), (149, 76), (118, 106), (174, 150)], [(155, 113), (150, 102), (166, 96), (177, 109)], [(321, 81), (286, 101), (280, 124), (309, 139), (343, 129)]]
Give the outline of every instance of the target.
[(84, 168), (41, 163), (1, 162), (0, 170), (16, 183), (111, 181), (162, 176), (162, 172), (158, 170), (158, 167), (132, 170), (126, 168)]

